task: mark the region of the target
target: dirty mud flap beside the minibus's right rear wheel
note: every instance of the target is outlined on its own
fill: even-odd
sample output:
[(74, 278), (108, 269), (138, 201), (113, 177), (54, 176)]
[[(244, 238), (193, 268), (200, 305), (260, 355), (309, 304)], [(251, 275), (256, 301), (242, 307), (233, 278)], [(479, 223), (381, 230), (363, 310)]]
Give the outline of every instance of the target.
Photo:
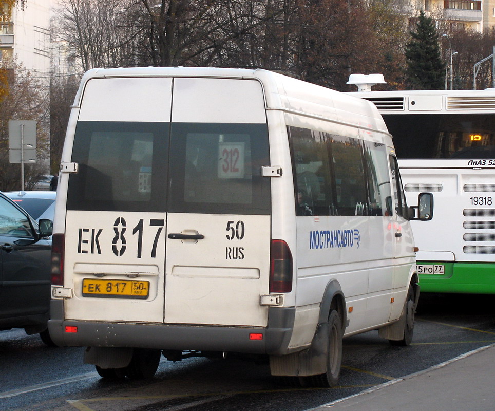
[(272, 376), (307, 377), (327, 372), (328, 333), (328, 323), (320, 323), (310, 348), (285, 356), (270, 356)]

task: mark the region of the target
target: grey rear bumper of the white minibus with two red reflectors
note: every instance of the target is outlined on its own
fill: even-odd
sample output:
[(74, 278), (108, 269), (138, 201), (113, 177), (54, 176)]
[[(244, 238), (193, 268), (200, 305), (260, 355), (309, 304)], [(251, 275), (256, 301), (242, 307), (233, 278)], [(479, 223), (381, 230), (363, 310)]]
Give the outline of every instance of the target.
[[(268, 327), (136, 324), (61, 320), (63, 300), (51, 301), (50, 337), (59, 346), (135, 347), (166, 350), (230, 351), (282, 355), (294, 325), (294, 308), (271, 307)], [(66, 332), (67, 326), (77, 332)], [(262, 334), (250, 340), (251, 333)]]

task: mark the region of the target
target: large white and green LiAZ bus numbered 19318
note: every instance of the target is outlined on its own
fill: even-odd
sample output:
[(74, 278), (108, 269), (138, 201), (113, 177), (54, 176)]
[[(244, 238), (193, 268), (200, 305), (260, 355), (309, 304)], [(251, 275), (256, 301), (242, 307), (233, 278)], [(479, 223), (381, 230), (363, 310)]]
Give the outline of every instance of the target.
[(495, 89), (349, 94), (382, 114), (406, 197), (434, 195), (434, 218), (412, 222), (421, 290), (495, 293)]

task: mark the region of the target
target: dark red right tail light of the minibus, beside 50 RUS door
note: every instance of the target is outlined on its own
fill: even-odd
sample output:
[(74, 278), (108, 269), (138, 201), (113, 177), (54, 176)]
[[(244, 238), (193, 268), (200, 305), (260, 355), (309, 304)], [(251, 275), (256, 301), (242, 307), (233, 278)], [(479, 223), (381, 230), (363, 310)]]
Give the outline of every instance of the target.
[(272, 240), (270, 246), (270, 292), (292, 291), (292, 253), (287, 242)]

